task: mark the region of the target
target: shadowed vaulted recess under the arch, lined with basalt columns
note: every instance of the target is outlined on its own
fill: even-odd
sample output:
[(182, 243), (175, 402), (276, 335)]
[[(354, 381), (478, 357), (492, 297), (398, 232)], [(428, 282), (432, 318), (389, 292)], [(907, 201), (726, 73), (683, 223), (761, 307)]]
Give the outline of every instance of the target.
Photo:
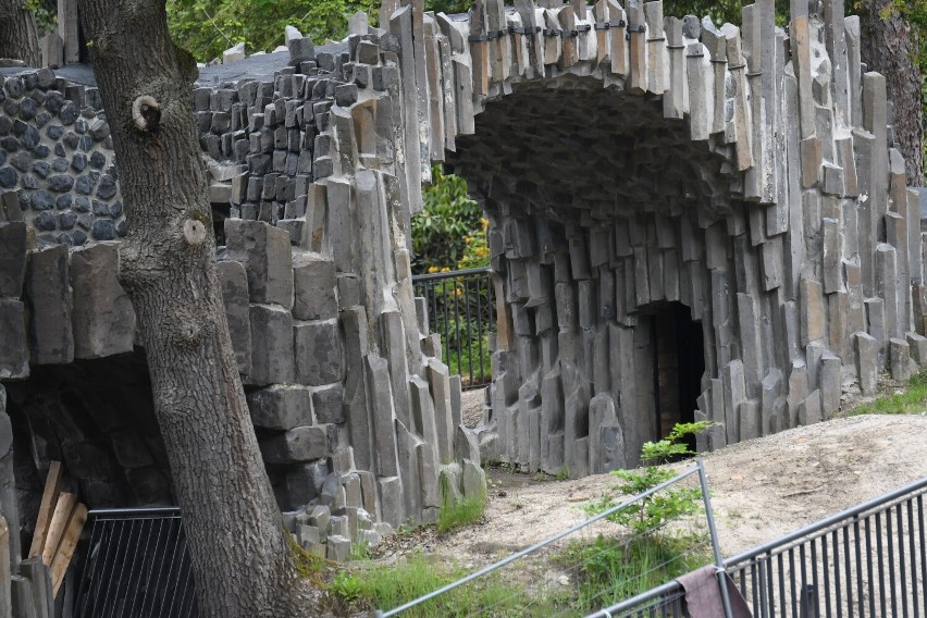
[(571, 76), (516, 85), (458, 137), (448, 166), (487, 214), (505, 304), (484, 456), (582, 477), (696, 419), (737, 349), (712, 319), (730, 313), (727, 220), (745, 210), (728, 154), (659, 98)]

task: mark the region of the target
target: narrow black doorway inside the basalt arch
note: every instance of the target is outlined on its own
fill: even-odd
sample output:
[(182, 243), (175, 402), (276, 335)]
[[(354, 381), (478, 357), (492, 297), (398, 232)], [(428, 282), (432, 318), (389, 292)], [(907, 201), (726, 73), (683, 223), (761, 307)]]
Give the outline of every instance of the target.
[[(653, 317), (657, 434), (665, 437), (678, 422), (693, 422), (702, 392), (705, 351), (702, 324), (680, 302), (659, 306)], [(690, 445), (694, 450), (694, 437)]]

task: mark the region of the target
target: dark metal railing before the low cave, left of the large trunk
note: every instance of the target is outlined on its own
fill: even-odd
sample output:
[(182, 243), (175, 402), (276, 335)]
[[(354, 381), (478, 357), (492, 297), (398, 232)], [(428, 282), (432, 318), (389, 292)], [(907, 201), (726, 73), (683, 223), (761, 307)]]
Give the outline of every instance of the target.
[(177, 508), (91, 510), (76, 618), (199, 615)]

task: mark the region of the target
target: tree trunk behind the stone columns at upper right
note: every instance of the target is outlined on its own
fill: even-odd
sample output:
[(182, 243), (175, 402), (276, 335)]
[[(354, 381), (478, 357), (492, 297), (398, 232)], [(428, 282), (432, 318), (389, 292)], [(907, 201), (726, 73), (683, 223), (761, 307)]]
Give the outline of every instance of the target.
[[(909, 186), (924, 186), (920, 71), (915, 61), (917, 30), (890, 8), (891, 0), (863, 0), (860, 8), (863, 62), (886, 77), (894, 102), (894, 144), (904, 154)], [(883, 20), (886, 15), (888, 18)]]

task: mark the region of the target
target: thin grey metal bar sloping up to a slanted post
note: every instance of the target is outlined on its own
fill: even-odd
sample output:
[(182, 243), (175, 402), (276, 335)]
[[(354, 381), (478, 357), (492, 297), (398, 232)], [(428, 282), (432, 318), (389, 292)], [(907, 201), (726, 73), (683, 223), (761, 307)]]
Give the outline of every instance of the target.
[[(598, 515), (591, 517), (590, 519), (586, 519), (585, 521), (582, 521), (582, 522), (580, 522), (580, 523), (578, 523), (578, 524), (576, 524), (576, 526), (573, 526), (573, 527), (571, 527), (567, 530), (564, 530), (564, 531), (555, 534), (554, 536), (545, 539), (545, 540), (543, 540), (539, 543), (531, 545), (530, 547), (527, 547), (527, 548), (524, 548), (520, 552), (511, 554), (511, 555), (503, 558), (502, 560), (497, 561), (497, 563), (494, 563), (492, 565), (483, 567), (482, 569), (479, 569), (479, 570), (468, 574), (465, 578), (461, 578), (461, 579), (458, 579), (454, 582), (450, 582), (449, 584), (444, 585), (444, 586), (440, 588), (438, 590), (435, 590), (434, 592), (431, 592), (429, 594), (420, 596), (419, 598), (416, 598), (413, 601), (410, 601), (410, 602), (408, 602), (404, 605), (400, 605), (398, 607), (395, 607), (395, 608), (386, 610), (386, 611), (384, 611), (382, 609), (378, 610), (375, 616), (376, 616), (376, 618), (390, 618), (391, 616), (397, 616), (397, 615), (399, 615), (404, 611), (410, 610), (415, 607), (418, 607), (422, 604), (425, 604), (430, 601), (433, 601), (433, 600), (440, 597), (441, 595), (446, 594), (446, 593), (448, 593), (448, 592), (450, 592), (450, 591), (453, 591), (453, 590), (455, 590), (459, 586), (470, 584), (470, 583), (474, 582), (475, 580), (479, 580), (480, 578), (485, 578), (486, 576), (498, 571), (503, 567), (505, 567), (505, 566), (507, 566), (511, 563), (515, 563), (516, 560), (526, 558), (527, 556), (530, 556), (532, 554), (537, 554), (542, 549), (552, 546), (557, 541), (560, 541), (561, 539), (565, 539), (567, 536), (570, 536), (571, 534), (574, 534), (579, 531), (582, 531), (582, 530), (589, 528), (590, 526), (592, 526), (593, 523), (602, 521), (603, 519), (606, 519), (607, 517), (613, 516), (614, 514), (618, 512), (619, 510), (626, 509), (626, 508), (634, 505), (635, 503), (643, 500), (644, 498), (647, 498), (650, 496), (653, 496), (654, 494), (659, 493), (659, 492), (662, 492), (662, 491), (664, 491), (664, 490), (666, 490), (666, 489), (668, 489), (672, 485), (676, 485), (677, 483), (680, 483), (681, 481), (683, 481), (683, 480), (685, 480), (685, 479), (688, 479), (692, 475), (695, 475), (695, 474), (699, 475), (700, 487), (701, 487), (701, 491), (702, 491), (702, 499), (704, 500), (704, 504), (705, 504), (705, 515), (706, 515), (712, 547), (713, 547), (713, 551), (714, 551), (716, 564), (719, 565), (720, 560), (721, 560), (721, 555), (720, 555), (720, 548), (718, 546), (718, 540), (717, 540), (717, 534), (716, 534), (716, 530), (715, 530), (715, 521), (714, 521), (714, 517), (712, 515), (712, 500), (710, 500), (710, 496), (708, 494), (707, 478), (705, 475), (705, 468), (702, 465), (702, 460), (696, 459), (695, 466), (692, 469), (687, 470), (684, 472), (681, 472), (680, 474), (677, 474), (672, 479), (669, 479), (668, 481), (660, 483), (659, 485), (656, 485), (656, 486), (647, 490), (646, 492), (638, 494), (638, 495), (622, 502), (619, 505), (613, 506), (613, 507), (608, 508), (607, 510), (604, 510), (604, 511), (600, 512)], [(719, 570), (719, 572), (722, 572), (722, 571)], [(727, 590), (726, 590), (726, 588), (722, 588), (721, 591), (722, 591), (725, 608), (728, 613), (728, 616), (730, 616), (729, 601), (727, 598)], [(653, 611), (654, 613), (653, 614), (640, 614), (640, 615), (641, 616), (684, 616), (684, 614), (681, 613), (682, 607), (683, 607), (682, 601), (681, 601), (682, 597), (683, 597), (683, 594), (682, 594), (681, 591), (678, 591), (676, 593), (669, 593), (666, 596), (660, 595), (658, 597), (654, 597), (653, 598), (653, 601), (654, 601)], [(679, 611), (678, 614), (672, 613), (673, 607), (677, 608), (677, 610)], [(641, 609), (641, 608), (639, 608), (639, 609)], [(494, 614), (492, 614), (492, 611), (490, 610), (489, 613), (485, 613), (485, 614), (481, 613), (480, 615), (493, 616)]]

